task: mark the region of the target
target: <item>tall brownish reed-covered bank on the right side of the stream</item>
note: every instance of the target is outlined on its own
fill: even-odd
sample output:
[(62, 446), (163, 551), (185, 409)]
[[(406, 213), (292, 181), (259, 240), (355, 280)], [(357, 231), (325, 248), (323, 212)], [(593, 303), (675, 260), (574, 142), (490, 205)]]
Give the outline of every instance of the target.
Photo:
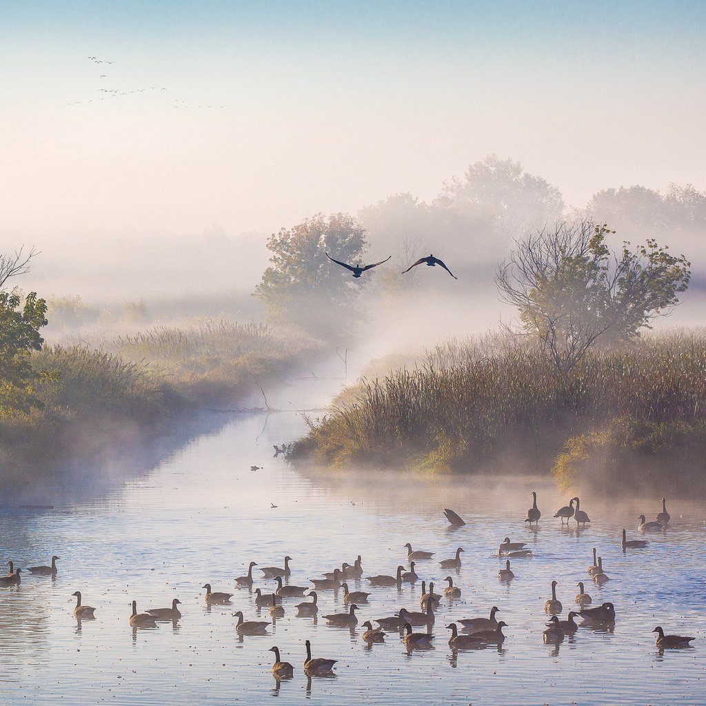
[(568, 378), (541, 349), (486, 337), (347, 390), (298, 453), (431, 472), (553, 469), (567, 488), (703, 488), (705, 404), (701, 331), (591, 352)]

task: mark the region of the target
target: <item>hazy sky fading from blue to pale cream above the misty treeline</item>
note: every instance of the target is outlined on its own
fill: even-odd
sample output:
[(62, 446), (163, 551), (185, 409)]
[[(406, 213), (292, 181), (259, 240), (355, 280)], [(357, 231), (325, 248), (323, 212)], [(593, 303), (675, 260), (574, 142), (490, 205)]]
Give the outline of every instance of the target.
[(273, 232), (490, 153), (579, 207), (706, 190), (700, 0), (0, 0), (0, 27), (8, 243)]

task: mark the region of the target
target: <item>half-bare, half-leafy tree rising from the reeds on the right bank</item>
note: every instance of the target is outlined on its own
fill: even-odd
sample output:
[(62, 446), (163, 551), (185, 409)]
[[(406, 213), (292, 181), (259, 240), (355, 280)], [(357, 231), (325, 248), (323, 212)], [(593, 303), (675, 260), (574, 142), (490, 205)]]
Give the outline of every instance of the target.
[(539, 337), (562, 373), (596, 342), (640, 335), (688, 287), (685, 256), (672, 256), (654, 239), (611, 252), (606, 236), (614, 232), (590, 221), (561, 224), (517, 241), (498, 266), (501, 297), (517, 307), (525, 333)]

